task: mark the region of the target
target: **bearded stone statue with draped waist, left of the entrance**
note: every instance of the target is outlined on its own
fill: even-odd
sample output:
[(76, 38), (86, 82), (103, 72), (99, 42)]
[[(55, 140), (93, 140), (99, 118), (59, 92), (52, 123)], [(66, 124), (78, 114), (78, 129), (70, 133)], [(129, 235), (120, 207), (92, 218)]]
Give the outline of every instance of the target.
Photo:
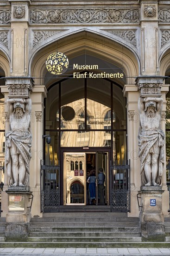
[(31, 160), (31, 99), (8, 99), (10, 128), (6, 133), (6, 169), (9, 186), (29, 186)]

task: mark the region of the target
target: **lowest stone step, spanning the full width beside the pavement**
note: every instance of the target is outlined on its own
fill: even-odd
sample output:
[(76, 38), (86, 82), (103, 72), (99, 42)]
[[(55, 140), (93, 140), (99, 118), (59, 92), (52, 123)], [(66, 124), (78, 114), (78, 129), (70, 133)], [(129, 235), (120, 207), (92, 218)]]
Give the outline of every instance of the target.
[(2, 242), (1, 248), (169, 248), (169, 242)]

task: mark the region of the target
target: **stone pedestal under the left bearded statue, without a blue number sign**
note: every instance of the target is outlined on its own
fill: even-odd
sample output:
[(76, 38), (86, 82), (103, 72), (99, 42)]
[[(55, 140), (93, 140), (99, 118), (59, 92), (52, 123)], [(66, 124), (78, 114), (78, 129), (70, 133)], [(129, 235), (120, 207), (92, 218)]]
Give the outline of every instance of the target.
[(27, 187), (10, 187), (6, 193), (8, 194), (8, 213), (6, 214), (5, 240), (27, 241), (32, 192)]

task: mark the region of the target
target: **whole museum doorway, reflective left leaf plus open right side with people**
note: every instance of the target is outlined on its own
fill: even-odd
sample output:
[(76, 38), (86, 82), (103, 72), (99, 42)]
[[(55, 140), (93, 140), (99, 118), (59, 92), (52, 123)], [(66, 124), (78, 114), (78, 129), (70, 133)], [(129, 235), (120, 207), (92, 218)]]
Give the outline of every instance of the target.
[(108, 205), (108, 154), (63, 153), (64, 205)]

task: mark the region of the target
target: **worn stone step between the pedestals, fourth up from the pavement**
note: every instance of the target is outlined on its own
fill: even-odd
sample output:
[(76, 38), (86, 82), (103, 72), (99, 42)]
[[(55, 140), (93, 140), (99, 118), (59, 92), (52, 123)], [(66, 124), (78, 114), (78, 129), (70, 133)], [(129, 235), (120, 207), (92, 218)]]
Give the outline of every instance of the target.
[[(30, 232), (73, 232), (73, 227), (41, 227), (41, 226), (30, 226)], [(74, 232), (140, 232), (139, 226), (132, 226), (132, 227), (105, 227), (105, 226), (97, 226), (97, 227), (74, 227)]]

